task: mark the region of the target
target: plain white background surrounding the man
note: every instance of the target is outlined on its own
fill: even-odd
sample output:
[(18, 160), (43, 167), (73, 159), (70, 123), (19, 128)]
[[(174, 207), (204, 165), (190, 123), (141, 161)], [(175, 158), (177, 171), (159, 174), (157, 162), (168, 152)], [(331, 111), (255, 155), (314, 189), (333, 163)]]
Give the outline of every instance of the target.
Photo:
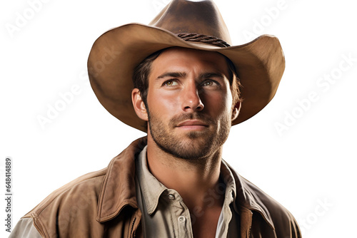
[[(144, 135), (100, 105), (86, 60), (101, 33), (130, 22), (148, 24), (167, 3), (47, 0), (32, 4), (34, 11), (29, 2), (0, 6), (0, 186), (4, 191), (4, 160), (10, 156), (13, 227), (50, 192), (106, 167)], [(351, 2), (216, 0), (233, 45), (253, 40), (247, 32), (273, 34), (286, 56), (275, 98), (232, 128), (223, 157), (287, 207), (304, 237), (356, 237), (357, 14)], [(21, 16), (26, 22), (19, 24)], [(10, 26), (18, 28), (11, 32)], [(321, 77), (336, 80), (326, 84)], [(46, 117), (73, 86), (79, 93), (41, 128), (39, 115)], [(306, 102), (311, 93), (315, 101), (301, 108), (297, 101)], [(278, 133), (284, 120), (288, 126)]]

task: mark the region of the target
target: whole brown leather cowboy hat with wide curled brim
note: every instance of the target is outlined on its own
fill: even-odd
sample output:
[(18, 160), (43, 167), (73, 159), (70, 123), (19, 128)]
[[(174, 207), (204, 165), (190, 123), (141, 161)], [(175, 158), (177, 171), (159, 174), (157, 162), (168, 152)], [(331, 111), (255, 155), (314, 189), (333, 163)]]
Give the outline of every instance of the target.
[(285, 59), (275, 36), (263, 35), (241, 46), (231, 38), (211, 0), (173, 0), (151, 23), (127, 24), (106, 31), (91, 48), (89, 80), (101, 104), (123, 123), (146, 132), (131, 103), (134, 68), (147, 56), (174, 46), (216, 51), (236, 66), (241, 80), (241, 112), (232, 125), (256, 115), (273, 98)]

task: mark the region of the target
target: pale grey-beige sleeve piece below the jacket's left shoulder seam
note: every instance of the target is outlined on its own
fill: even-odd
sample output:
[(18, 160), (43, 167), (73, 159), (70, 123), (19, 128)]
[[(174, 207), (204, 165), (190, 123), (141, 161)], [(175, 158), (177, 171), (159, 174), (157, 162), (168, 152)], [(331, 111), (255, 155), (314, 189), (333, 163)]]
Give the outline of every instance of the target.
[(21, 218), (11, 232), (9, 238), (42, 238), (34, 227), (34, 220), (30, 217)]

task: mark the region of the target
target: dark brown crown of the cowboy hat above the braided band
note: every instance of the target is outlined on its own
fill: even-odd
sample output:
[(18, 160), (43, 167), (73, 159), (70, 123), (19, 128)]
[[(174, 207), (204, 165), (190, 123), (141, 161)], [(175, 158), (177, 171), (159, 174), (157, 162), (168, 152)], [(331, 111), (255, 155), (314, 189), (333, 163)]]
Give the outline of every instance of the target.
[(198, 33), (214, 36), (231, 44), (231, 37), (221, 13), (211, 0), (173, 0), (155, 17), (149, 26), (172, 33)]

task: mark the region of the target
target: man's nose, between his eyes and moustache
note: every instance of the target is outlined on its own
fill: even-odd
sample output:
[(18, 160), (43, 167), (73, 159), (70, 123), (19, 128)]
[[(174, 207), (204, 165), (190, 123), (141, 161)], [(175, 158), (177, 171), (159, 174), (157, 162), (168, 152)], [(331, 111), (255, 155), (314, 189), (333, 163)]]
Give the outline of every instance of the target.
[(203, 110), (204, 105), (200, 94), (200, 89), (196, 86), (196, 83), (190, 83), (188, 86), (183, 88), (183, 94), (181, 96), (182, 110), (186, 112)]

